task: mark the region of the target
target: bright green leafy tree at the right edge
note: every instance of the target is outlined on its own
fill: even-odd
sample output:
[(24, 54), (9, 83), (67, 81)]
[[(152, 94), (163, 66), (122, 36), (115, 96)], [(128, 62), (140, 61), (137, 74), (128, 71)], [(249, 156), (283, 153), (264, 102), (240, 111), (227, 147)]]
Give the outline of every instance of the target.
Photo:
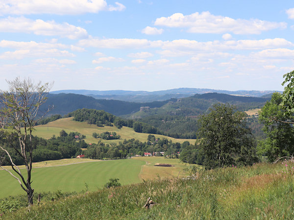
[[(270, 162), (282, 156), (294, 154), (294, 117), (286, 113), (281, 106), (283, 95), (275, 92), (259, 112), (259, 121), (264, 125), (267, 137), (259, 142), (258, 153), (266, 155)], [(273, 118), (275, 120), (273, 120)]]

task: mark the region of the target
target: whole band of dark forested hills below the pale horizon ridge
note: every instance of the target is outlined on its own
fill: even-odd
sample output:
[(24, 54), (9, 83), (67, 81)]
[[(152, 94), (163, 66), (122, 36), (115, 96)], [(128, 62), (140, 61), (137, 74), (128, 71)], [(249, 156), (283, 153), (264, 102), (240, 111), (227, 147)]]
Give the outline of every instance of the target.
[[(234, 96), (219, 93), (196, 94), (191, 97), (181, 99), (169, 99), (165, 101), (155, 101), (148, 103), (126, 102), (119, 100), (95, 99), (90, 96), (79, 94), (49, 94), (48, 100), (42, 106), (42, 112), (46, 110), (48, 105), (53, 105), (54, 108), (49, 112), (49, 115), (61, 114), (65, 115), (77, 109), (96, 109), (105, 110), (114, 115), (129, 115), (135, 112), (140, 112), (142, 117), (144, 112), (140, 111), (140, 107), (149, 107), (154, 113), (167, 115), (197, 115), (206, 111), (213, 103), (224, 102), (237, 105), (239, 110), (246, 110), (253, 107), (260, 107), (267, 101), (266, 98)], [(145, 112), (146, 113), (146, 112)]]

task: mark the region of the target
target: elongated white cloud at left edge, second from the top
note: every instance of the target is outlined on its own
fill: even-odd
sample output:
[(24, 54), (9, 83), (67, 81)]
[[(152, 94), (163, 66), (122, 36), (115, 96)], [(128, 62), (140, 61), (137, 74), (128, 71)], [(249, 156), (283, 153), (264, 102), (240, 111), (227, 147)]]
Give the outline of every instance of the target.
[(25, 17), (8, 17), (0, 20), (0, 32), (34, 33), (36, 35), (60, 36), (69, 39), (87, 38), (84, 28), (69, 23), (56, 23), (54, 21), (31, 20)]

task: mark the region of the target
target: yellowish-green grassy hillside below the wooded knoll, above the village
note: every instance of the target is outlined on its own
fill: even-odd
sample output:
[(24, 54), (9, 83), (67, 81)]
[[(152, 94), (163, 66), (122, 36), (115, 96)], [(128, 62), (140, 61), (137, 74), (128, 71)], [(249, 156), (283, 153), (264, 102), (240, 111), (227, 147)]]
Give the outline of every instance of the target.
[[(118, 129), (117, 127), (113, 126), (104, 126), (104, 127), (97, 127), (96, 125), (90, 125), (85, 122), (77, 122), (73, 121), (73, 117), (71, 118), (61, 118), (56, 121), (50, 122), (47, 125), (39, 125), (35, 127), (34, 135), (43, 137), (43, 138), (50, 138), (53, 134), (56, 136), (59, 136), (59, 132), (61, 130), (65, 130), (66, 132), (80, 132), (81, 134), (86, 135), (85, 141), (87, 143), (97, 143), (98, 140), (102, 139), (96, 139), (92, 137), (93, 132), (96, 133), (102, 133), (105, 131), (108, 132), (117, 132), (117, 134), (121, 135), (120, 140), (102, 140), (104, 143), (119, 143), (123, 139), (131, 139), (135, 138), (142, 142), (147, 141), (148, 133), (137, 133), (134, 132), (133, 129), (128, 127), (123, 127), (121, 129)], [(169, 140), (172, 140), (172, 142), (179, 142), (183, 143), (184, 141), (188, 140), (190, 143), (194, 144), (195, 139), (176, 139), (172, 137), (167, 137), (164, 135), (155, 134), (156, 137), (159, 138), (167, 138)]]

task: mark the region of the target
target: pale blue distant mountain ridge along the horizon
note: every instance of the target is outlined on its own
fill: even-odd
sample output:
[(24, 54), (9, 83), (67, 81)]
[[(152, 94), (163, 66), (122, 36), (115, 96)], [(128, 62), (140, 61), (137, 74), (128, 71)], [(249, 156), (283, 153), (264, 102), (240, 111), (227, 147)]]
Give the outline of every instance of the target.
[[(172, 98), (185, 98), (193, 96), (195, 94), (205, 93), (223, 93), (228, 95), (237, 96), (251, 96), (251, 97), (262, 97), (275, 92), (274, 90), (258, 91), (258, 90), (218, 90), (209, 88), (174, 88), (160, 91), (130, 91), (130, 90), (86, 90), (86, 89), (69, 89), (69, 90), (58, 90), (52, 91), (51, 94), (59, 93), (74, 93), (80, 95), (92, 96), (96, 99), (107, 99), (107, 100), (120, 100), (128, 102), (153, 102), (153, 101), (165, 101)], [(281, 91), (279, 91), (281, 92)]]

